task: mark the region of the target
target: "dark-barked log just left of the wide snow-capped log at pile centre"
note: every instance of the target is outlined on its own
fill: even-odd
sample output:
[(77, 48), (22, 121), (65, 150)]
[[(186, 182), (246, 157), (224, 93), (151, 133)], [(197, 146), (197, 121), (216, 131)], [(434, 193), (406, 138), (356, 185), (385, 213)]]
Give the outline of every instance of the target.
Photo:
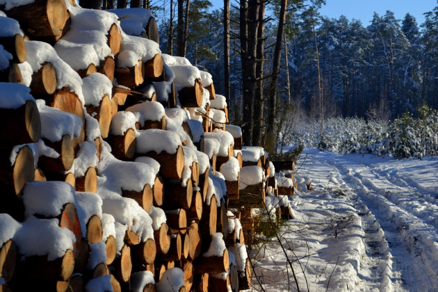
[(129, 161), (136, 154), (137, 140), (133, 129), (127, 129), (123, 136), (108, 135), (105, 140), (111, 146), (111, 154), (116, 159)]

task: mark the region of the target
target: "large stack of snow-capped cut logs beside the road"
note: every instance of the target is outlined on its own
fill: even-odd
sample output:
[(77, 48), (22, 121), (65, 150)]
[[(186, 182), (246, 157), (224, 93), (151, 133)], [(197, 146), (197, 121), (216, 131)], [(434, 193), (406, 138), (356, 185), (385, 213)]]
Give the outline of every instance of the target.
[(149, 10), (19, 5), (0, 6), (0, 291), (248, 289), (250, 210), (293, 186), (211, 74), (161, 53)]

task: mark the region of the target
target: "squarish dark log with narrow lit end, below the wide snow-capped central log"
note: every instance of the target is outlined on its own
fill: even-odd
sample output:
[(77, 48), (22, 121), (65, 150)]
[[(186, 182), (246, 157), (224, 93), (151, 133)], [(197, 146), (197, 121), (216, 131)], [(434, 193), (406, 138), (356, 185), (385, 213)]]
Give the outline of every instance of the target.
[(165, 197), (165, 209), (189, 209), (190, 205), (192, 204), (193, 197), (193, 186), (191, 179), (187, 179), (186, 186), (181, 186), (179, 181), (176, 184), (166, 182)]

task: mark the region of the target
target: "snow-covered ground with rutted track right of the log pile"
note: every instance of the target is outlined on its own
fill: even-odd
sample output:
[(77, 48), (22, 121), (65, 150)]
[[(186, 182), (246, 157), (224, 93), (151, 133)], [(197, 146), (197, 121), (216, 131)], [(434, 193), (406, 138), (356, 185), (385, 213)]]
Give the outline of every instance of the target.
[[(306, 154), (280, 234), (300, 291), (438, 291), (438, 158)], [(276, 241), (252, 256), (254, 290), (297, 291)]]

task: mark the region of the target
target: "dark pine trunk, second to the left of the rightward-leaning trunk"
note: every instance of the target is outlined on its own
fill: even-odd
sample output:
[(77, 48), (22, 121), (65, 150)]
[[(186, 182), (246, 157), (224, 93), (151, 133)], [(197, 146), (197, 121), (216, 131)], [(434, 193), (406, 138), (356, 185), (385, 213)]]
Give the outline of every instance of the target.
[(252, 145), (252, 129), (254, 128), (254, 95), (257, 87), (256, 56), (257, 56), (257, 28), (259, 22), (259, 1), (248, 2), (248, 42), (245, 54), (246, 62), (243, 68), (243, 143)]

